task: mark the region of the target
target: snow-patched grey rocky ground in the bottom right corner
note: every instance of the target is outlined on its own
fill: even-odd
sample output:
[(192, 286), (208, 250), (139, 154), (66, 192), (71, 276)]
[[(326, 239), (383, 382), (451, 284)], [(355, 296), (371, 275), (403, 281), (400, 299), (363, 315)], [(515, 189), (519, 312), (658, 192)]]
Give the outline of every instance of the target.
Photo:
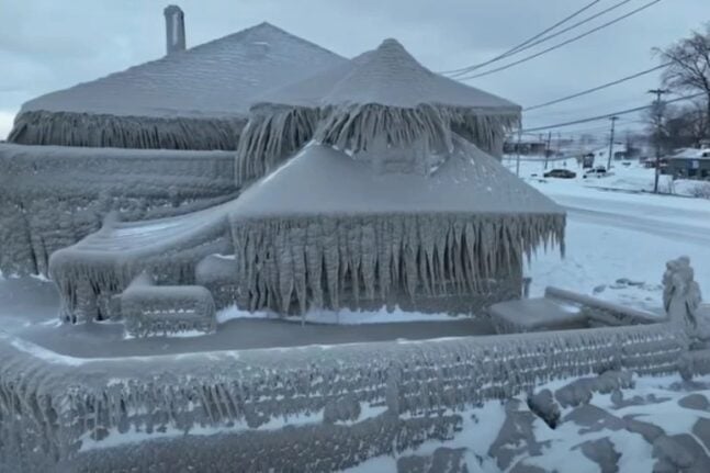
[[(553, 382), (538, 392), (549, 388), (559, 399), (556, 390), (567, 382)], [(709, 383), (708, 378), (692, 383), (679, 376), (639, 378), (632, 388), (593, 393), (588, 404), (557, 404), (554, 428), (530, 410), (525, 395), (505, 403), (491, 401), (458, 413), (462, 429), (446, 442), (430, 440), (347, 471), (404, 472), (421, 465), (416, 471), (706, 473)], [(661, 465), (666, 470), (654, 470)]]

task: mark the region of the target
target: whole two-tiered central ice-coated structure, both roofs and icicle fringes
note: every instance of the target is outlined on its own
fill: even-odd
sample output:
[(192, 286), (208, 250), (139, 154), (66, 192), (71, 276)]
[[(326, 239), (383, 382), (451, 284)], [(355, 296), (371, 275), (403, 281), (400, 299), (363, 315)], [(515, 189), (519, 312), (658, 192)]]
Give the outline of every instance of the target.
[(317, 103), (311, 79), (262, 108), (275, 125), (239, 153), (248, 180), (313, 138), (229, 207), (239, 303), (440, 311), (519, 296), (523, 255), (563, 244), (564, 212), (460, 135), (491, 145), (519, 108), (430, 72), (394, 40), (324, 77)]

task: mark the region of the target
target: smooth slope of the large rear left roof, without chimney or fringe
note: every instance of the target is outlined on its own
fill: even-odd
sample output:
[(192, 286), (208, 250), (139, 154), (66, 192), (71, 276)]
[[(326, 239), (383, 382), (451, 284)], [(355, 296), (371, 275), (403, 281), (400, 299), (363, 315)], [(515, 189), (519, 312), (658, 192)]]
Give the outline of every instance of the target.
[(255, 95), (347, 59), (269, 23), (26, 102), (29, 111), (246, 115)]

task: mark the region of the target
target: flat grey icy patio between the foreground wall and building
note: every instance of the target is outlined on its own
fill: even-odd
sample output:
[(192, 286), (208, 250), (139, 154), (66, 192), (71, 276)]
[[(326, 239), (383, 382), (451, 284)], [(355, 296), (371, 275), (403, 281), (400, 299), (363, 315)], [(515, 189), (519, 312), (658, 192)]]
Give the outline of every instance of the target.
[[(407, 315), (384, 312), (345, 313), (340, 324), (324, 323), (333, 313), (301, 318), (268, 314), (247, 315), (227, 309), (215, 334), (187, 333), (181, 337), (126, 338), (121, 323), (61, 324), (59, 296), (54, 284), (35, 278), (0, 280), (0, 319), (3, 329), (47, 350), (78, 358), (144, 357), (217, 350), (288, 348), (364, 341), (422, 340), (492, 335), (485, 318), (446, 314)], [(392, 316), (393, 322), (385, 322)], [(348, 317), (351, 317), (348, 319)]]

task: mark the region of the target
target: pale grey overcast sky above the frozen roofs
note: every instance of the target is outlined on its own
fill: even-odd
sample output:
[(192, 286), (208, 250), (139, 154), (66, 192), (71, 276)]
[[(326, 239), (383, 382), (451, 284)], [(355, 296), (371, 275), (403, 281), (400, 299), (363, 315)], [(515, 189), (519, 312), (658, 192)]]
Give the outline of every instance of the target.
[[(619, 0), (600, 0), (584, 19)], [(561, 40), (643, 5), (626, 5)], [(180, 0), (188, 47), (261, 21), (352, 57), (396, 37), (425, 66), (448, 70), (486, 60), (539, 33), (590, 0)], [(89, 81), (165, 54), (157, 0), (0, 0), (0, 138), (20, 105), (36, 95)], [(655, 66), (666, 46), (710, 21), (710, 0), (663, 0), (608, 29), (526, 64), (467, 81), (522, 105), (574, 93)], [(542, 48), (531, 49), (519, 57)], [(498, 63), (499, 65), (506, 61)], [(525, 116), (539, 126), (645, 104), (650, 75), (584, 100)], [(634, 126), (635, 117), (620, 122)], [(561, 132), (602, 134), (596, 122)], [(638, 125), (635, 125), (638, 126)]]

